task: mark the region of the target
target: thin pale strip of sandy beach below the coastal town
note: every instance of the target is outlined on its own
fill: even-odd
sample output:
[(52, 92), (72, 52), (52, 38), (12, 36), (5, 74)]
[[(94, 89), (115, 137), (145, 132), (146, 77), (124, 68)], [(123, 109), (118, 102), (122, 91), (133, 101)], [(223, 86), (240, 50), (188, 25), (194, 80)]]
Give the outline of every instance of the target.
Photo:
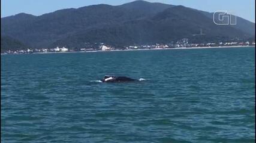
[[(60, 53), (74, 53), (74, 52), (113, 52), (113, 51), (143, 51), (143, 50), (161, 50), (161, 49), (210, 49), (210, 48), (249, 48), (249, 47), (255, 47), (255, 45), (251, 46), (201, 46), (201, 47), (180, 47), (180, 48), (153, 48), (153, 49), (113, 49), (113, 50), (97, 50), (97, 51), (70, 51), (70, 52), (34, 52), (32, 54), (60, 54)], [(6, 53), (1, 55), (8, 55)], [(14, 54), (15, 55), (15, 54)], [(18, 54), (19, 55), (19, 54)]]

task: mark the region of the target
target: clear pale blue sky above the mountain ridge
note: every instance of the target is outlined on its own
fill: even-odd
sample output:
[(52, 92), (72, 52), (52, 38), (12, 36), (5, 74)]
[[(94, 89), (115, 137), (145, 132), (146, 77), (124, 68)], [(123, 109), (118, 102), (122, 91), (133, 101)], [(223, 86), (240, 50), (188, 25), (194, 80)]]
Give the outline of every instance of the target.
[[(134, 0), (1, 0), (1, 17), (18, 13), (41, 15), (64, 8), (94, 4), (121, 5)], [(208, 12), (234, 11), (235, 15), (255, 23), (255, 0), (147, 0), (171, 5), (184, 5)]]

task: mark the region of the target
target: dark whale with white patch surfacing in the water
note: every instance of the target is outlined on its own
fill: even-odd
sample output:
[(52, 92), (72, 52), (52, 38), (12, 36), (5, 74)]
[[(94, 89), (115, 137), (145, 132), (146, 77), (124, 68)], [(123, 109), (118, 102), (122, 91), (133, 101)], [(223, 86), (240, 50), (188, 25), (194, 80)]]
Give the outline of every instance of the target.
[(125, 76), (104, 76), (101, 82), (134, 82), (138, 81), (137, 79), (132, 79)]

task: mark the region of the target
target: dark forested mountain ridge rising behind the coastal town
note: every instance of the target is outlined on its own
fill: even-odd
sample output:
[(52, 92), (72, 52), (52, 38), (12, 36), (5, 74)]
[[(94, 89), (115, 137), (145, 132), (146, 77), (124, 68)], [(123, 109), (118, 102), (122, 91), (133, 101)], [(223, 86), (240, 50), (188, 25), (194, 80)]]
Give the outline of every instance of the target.
[[(212, 13), (146, 1), (123, 5), (91, 5), (34, 16), (16, 14), (1, 18), (1, 35), (32, 48), (85, 48), (85, 43), (104, 42), (122, 46), (189, 38), (192, 41), (250, 38), (255, 23), (237, 17), (236, 26), (218, 26)], [(203, 37), (193, 36), (200, 29)], [(2, 41), (2, 39), (1, 39)]]

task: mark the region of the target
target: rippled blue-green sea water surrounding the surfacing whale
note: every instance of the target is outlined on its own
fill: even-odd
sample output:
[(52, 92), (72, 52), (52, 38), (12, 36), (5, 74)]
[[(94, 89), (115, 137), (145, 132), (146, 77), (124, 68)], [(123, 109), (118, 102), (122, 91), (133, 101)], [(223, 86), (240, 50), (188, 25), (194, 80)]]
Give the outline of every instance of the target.
[(254, 73), (254, 47), (1, 55), (1, 141), (254, 142)]

